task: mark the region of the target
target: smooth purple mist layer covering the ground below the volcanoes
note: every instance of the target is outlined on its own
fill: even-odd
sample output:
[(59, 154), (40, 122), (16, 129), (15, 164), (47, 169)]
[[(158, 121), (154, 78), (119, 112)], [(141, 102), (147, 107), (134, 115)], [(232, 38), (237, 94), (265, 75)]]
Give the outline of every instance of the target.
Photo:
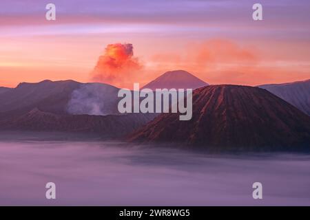
[[(310, 155), (209, 155), (118, 142), (0, 141), (0, 205), (309, 205)], [(45, 199), (45, 184), (56, 199)], [(263, 199), (252, 198), (252, 184)]]

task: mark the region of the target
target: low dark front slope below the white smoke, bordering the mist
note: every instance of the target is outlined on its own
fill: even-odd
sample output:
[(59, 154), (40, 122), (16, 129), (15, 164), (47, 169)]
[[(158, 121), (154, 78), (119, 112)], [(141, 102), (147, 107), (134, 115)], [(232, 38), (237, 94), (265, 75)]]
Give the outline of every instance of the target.
[(152, 114), (57, 115), (33, 109), (25, 115), (0, 122), (2, 130), (66, 131), (98, 133), (102, 137), (121, 137), (154, 118)]

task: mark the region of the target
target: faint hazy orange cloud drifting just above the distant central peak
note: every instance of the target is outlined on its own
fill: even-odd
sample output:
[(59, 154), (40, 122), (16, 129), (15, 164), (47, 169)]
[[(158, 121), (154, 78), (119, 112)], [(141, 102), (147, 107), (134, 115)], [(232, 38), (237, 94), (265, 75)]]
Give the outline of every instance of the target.
[(211, 39), (189, 44), (183, 56), (177, 53), (156, 54), (152, 61), (162, 66), (174, 64), (185, 69), (214, 70), (226, 66), (255, 65), (258, 54), (254, 48), (242, 47), (233, 41)]

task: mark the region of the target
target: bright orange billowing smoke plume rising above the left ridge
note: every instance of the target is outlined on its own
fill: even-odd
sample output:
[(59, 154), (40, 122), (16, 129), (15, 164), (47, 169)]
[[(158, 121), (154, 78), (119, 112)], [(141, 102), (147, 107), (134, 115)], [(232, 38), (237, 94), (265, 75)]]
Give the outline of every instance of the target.
[(130, 43), (114, 43), (105, 47), (92, 71), (92, 80), (123, 87), (143, 65), (134, 57), (134, 47)]

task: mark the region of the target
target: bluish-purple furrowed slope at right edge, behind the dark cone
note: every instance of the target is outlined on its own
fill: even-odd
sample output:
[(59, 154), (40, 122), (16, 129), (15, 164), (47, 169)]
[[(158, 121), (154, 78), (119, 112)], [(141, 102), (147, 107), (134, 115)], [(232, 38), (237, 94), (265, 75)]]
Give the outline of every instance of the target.
[(310, 115), (310, 80), (258, 86), (267, 89)]

